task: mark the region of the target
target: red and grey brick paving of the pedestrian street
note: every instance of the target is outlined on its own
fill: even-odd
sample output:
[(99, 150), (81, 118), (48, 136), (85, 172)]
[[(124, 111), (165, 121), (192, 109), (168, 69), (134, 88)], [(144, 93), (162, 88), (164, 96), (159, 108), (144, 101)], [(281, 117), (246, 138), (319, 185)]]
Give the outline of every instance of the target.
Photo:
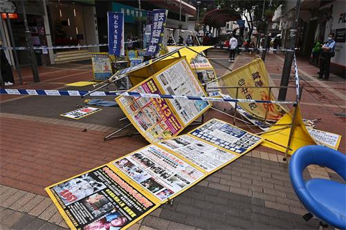
[[(226, 57), (224, 52), (210, 52), (209, 55), (229, 65), (227, 59), (223, 59)], [(240, 55), (230, 67), (242, 66), (253, 56)], [(281, 73), (282, 57), (266, 57), (266, 66), (275, 84), (280, 84), (278, 74)], [(345, 94), (345, 80), (332, 76), (330, 82), (321, 82), (316, 79), (317, 68), (304, 60), (299, 61), (298, 66), (305, 79), (302, 81), (303, 116), (322, 118), (316, 124), (317, 128), (345, 135), (345, 128), (340, 128), (345, 127), (345, 118), (334, 115), (345, 111), (345, 101), (340, 98), (340, 94)], [(90, 68), (87, 64), (42, 67), (40, 73), (45, 82), (39, 84), (30, 83), (30, 73), (24, 70), (28, 84), (20, 87), (62, 88), (69, 82), (90, 80)], [(49, 73), (51, 71), (55, 72)], [(216, 71), (218, 75), (225, 72), (218, 67)], [(60, 113), (54, 115), (54, 111), (67, 110), (63, 104), (48, 104), (45, 112), (35, 97), (18, 99), (17, 96), (2, 95), (0, 101), (0, 229), (66, 228), (44, 187), (147, 144), (138, 135), (104, 142), (104, 135), (123, 124), (111, 126), (91, 118), (71, 121), (60, 117)], [(329, 106), (321, 106), (321, 102)], [(25, 106), (30, 103), (33, 108)], [(26, 111), (15, 109), (15, 104)], [(75, 101), (66, 100), (65, 104), (73, 107)], [(37, 108), (42, 115), (37, 113)], [(111, 115), (121, 117), (118, 113), (110, 109), (91, 116), (110, 119)], [(212, 117), (233, 121), (231, 117), (210, 110), (206, 119)], [(82, 132), (84, 128), (86, 132)], [(343, 142), (340, 149), (345, 152), (345, 148)], [(287, 169), (282, 153), (259, 146), (174, 198), (172, 206), (164, 204), (131, 229), (315, 229), (317, 220), (304, 222), (301, 218), (306, 211), (291, 187)], [(340, 180), (333, 171), (320, 166), (309, 166), (304, 176)]]

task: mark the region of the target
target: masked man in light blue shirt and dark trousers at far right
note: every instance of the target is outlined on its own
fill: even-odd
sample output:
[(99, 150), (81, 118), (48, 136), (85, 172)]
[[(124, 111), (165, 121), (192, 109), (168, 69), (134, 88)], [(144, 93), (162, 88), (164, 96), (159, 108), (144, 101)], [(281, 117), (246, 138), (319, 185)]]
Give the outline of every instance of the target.
[(329, 66), (330, 59), (334, 57), (336, 42), (334, 41), (334, 33), (329, 33), (327, 37), (327, 43), (321, 47), (320, 55), (320, 76), (318, 78), (322, 79), (323, 76), (325, 79), (329, 79)]

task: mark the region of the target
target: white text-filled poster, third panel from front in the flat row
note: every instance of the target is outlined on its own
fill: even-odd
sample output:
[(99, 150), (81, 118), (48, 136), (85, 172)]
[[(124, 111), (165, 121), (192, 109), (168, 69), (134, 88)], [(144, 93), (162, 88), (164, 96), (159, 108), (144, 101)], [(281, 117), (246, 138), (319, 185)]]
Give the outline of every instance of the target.
[(171, 140), (159, 142), (158, 145), (179, 153), (208, 173), (228, 164), (238, 156), (190, 135), (180, 135)]

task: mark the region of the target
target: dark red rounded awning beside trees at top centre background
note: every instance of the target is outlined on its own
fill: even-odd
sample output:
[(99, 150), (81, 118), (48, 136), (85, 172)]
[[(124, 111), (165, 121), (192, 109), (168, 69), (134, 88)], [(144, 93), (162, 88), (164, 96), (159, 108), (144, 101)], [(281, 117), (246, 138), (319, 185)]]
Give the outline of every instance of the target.
[(215, 9), (206, 12), (203, 23), (214, 28), (225, 26), (227, 21), (237, 21), (242, 19), (237, 12), (230, 12), (228, 9)]

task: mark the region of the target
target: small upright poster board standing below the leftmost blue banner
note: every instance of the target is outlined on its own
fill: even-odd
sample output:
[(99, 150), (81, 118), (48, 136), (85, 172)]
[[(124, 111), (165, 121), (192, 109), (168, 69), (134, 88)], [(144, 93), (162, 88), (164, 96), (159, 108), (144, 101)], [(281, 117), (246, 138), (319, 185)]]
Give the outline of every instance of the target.
[(93, 65), (93, 78), (95, 81), (104, 81), (113, 75), (111, 70), (111, 60), (107, 52), (93, 52), (91, 54)]

